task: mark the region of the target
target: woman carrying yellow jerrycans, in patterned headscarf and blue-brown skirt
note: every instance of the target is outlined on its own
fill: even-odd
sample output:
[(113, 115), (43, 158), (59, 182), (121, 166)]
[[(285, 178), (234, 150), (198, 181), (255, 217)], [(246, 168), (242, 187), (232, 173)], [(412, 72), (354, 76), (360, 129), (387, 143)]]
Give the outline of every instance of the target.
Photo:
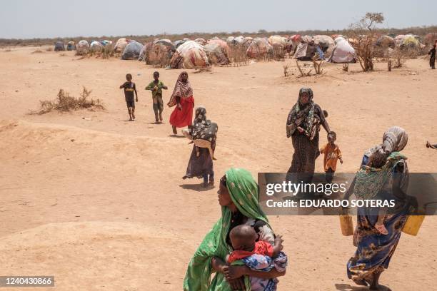
[(348, 278), (370, 290), (384, 290), (378, 284), (401, 238), (413, 200), (406, 195), (408, 165), (401, 150), (408, 142), (403, 128), (394, 126), (383, 135), (383, 143), (363, 155), (345, 199), (355, 194), (358, 199), (391, 200), (393, 207), (358, 208), (353, 235), (355, 255), (347, 263)]

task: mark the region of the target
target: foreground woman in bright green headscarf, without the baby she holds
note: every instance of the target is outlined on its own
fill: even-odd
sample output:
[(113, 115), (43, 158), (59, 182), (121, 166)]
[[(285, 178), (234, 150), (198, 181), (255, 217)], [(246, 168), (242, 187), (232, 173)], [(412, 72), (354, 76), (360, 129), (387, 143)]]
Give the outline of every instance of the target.
[[(186, 271), (184, 290), (251, 290), (248, 277), (273, 279), (285, 275), (285, 270), (279, 272), (274, 267), (269, 272), (258, 272), (244, 265), (228, 265), (225, 261), (232, 251), (229, 232), (236, 225), (251, 225), (258, 233), (258, 240), (274, 241), (268, 219), (259, 207), (258, 185), (251, 173), (239, 168), (227, 170), (217, 193), (221, 218), (194, 252)], [(235, 279), (226, 279), (225, 271)], [(213, 272), (216, 275), (211, 281)]]

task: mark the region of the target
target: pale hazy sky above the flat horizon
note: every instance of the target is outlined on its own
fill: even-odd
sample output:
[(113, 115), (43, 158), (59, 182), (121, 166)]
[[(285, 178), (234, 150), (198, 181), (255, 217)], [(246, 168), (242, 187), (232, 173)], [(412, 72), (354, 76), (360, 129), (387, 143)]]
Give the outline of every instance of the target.
[(437, 24), (422, 0), (0, 0), (0, 38), (343, 29), (367, 11), (384, 27)]

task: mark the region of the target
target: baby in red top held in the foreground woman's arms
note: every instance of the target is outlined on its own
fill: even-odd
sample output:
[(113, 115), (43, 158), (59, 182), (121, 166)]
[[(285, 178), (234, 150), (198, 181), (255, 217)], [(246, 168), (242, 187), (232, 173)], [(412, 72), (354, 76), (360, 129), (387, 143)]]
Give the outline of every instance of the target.
[[(272, 270), (273, 267), (286, 267), (285, 262), (281, 266), (278, 266), (277, 263), (273, 264), (273, 259), (286, 257), (286, 255), (281, 252), (283, 242), (281, 236), (278, 235), (275, 238), (274, 245), (271, 245), (269, 242), (256, 241), (258, 235), (251, 226), (238, 225), (231, 230), (229, 238), (233, 252), (226, 257), (228, 264), (236, 260), (242, 260), (246, 267), (256, 272), (268, 272)], [(228, 278), (232, 277), (228, 272), (228, 268), (224, 270), (224, 274)], [(250, 282), (252, 291), (276, 290), (276, 285), (278, 284), (276, 278), (262, 279), (253, 276), (250, 277)]]

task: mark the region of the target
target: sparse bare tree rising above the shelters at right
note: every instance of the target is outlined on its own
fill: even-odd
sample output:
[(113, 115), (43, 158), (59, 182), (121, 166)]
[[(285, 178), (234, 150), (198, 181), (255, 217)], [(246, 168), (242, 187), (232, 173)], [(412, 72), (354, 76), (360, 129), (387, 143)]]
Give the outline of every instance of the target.
[(373, 71), (373, 58), (375, 57), (375, 44), (378, 38), (376, 24), (384, 21), (382, 13), (366, 13), (360, 21), (349, 26), (348, 34), (351, 44), (356, 51), (356, 56), (363, 71)]

